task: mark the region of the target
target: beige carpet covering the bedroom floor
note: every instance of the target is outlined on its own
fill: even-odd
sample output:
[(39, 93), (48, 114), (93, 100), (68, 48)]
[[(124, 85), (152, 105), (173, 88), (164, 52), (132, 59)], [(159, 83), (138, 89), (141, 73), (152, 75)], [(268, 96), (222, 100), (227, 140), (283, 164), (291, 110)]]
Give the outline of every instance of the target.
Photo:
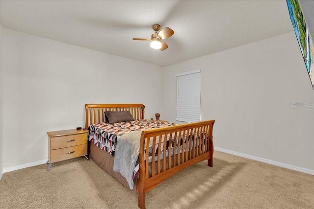
[[(4, 173), (1, 209), (136, 209), (137, 194), (84, 157)], [(215, 151), (146, 193), (147, 209), (314, 209), (314, 176)]]

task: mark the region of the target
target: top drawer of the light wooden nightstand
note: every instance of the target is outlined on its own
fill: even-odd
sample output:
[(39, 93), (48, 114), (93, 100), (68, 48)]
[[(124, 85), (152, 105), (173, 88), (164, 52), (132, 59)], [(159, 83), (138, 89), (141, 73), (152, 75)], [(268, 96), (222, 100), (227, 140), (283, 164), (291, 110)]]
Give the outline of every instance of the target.
[[(61, 137), (51, 138), (51, 149), (59, 149), (65, 147), (76, 146), (87, 143), (87, 134), (75, 134)], [(85, 145), (86, 146), (86, 145)]]

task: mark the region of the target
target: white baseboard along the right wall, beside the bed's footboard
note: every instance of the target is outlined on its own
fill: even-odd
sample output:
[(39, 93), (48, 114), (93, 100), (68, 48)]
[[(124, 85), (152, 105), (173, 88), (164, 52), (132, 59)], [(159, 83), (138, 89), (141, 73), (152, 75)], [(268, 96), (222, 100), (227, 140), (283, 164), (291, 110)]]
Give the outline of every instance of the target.
[(298, 166), (294, 166), (294, 165), (289, 165), (289, 164), (286, 164), (286, 163), (280, 163), (280, 162), (276, 162), (276, 161), (271, 161), (271, 160), (267, 160), (267, 159), (264, 159), (264, 158), (259, 158), (259, 157), (255, 157), (255, 156), (251, 156), (251, 155), (247, 155), (247, 154), (243, 154), (243, 153), (239, 153), (239, 152), (235, 152), (235, 151), (231, 151), (231, 150), (227, 150), (227, 149), (223, 149), (223, 148), (219, 148), (219, 147), (214, 147), (214, 150), (217, 150), (217, 151), (220, 151), (220, 152), (225, 152), (225, 153), (228, 153), (228, 154), (236, 155), (236, 156), (247, 158), (247, 159), (251, 159), (251, 160), (255, 160), (255, 161), (259, 161), (259, 162), (262, 162), (262, 163), (268, 163), (268, 164), (276, 165), (276, 166), (279, 166), (279, 167), (284, 167), (284, 168), (288, 168), (288, 169), (291, 169), (291, 170), (300, 171), (302, 173), (307, 173), (307, 174), (314, 175), (314, 170), (311, 170), (311, 169), (298, 167)]

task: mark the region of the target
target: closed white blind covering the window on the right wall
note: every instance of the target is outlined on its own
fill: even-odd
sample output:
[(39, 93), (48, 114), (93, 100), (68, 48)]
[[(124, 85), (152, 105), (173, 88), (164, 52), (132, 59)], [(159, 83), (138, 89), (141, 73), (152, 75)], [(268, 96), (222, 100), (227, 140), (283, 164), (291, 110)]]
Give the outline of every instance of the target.
[(193, 70), (177, 77), (177, 121), (201, 120), (201, 70)]

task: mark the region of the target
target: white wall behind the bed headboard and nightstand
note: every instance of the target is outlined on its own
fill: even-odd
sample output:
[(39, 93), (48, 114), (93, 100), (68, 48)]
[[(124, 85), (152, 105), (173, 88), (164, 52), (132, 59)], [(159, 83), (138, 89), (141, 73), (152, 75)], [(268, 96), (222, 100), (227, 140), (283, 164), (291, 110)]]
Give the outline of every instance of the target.
[(85, 103), (162, 104), (161, 67), (6, 28), (1, 72), (4, 172), (46, 161), (47, 132), (84, 126)]

